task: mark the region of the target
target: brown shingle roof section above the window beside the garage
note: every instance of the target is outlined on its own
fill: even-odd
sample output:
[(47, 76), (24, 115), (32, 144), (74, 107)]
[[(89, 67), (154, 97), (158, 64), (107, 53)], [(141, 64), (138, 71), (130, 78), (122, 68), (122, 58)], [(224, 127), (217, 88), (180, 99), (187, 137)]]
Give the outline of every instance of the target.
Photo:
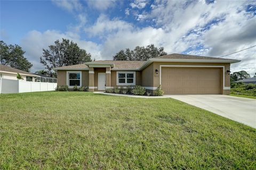
[(113, 69), (139, 69), (146, 61), (115, 61), (115, 60), (100, 60), (95, 63), (114, 63)]

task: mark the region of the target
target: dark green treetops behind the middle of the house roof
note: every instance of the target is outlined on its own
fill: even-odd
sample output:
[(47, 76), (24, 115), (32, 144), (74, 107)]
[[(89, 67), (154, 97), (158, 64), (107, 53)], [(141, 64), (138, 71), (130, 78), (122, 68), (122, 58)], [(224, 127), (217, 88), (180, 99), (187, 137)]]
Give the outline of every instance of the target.
[(124, 50), (120, 50), (113, 56), (113, 60), (126, 60), (126, 61), (146, 61), (148, 58), (154, 58), (162, 55), (167, 55), (164, 52), (164, 47), (157, 48), (154, 44), (148, 45), (145, 47), (135, 47), (133, 50), (126, 48)]

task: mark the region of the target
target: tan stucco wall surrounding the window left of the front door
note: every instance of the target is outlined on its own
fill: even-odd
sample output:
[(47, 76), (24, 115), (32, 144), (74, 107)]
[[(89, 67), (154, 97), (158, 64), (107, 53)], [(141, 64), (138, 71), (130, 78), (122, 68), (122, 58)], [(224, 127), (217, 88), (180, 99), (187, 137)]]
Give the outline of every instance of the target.
[[(72, 71), (81, 71), (81, 70), (72, 70)], [(67, 85), (67, 72), (68, 70), (58, 70), (57, 71), (57, 84), (58, 85)], [(82, 71), (82, 86), (89, 86), (89, 71)]]

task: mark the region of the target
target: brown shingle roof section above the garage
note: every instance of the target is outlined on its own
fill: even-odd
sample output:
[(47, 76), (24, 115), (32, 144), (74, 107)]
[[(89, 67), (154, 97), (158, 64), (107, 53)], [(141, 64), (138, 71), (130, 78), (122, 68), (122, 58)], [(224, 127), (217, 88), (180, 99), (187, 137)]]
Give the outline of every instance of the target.
[(163, 55), (155, 58), (165, 58), (165, 59), (203, 59), (203, 60), (230, 60), (227, 58), (217, 58), (217, 57), (205, 57), (205, 56), (198, 56), (198, 55), (187, 55), (187, 54), (169, 54)]

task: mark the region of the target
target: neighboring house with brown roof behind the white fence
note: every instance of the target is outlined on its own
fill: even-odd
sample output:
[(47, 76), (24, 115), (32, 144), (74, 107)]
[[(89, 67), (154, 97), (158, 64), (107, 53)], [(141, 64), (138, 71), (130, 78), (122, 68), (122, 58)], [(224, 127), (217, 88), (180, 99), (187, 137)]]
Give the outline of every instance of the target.
[(17, 73), (21, 75), (23, 81), (36, 81), (36, 78), (38, 77), (36, 74), (0, 64), (0, 78), (17, 80)]

